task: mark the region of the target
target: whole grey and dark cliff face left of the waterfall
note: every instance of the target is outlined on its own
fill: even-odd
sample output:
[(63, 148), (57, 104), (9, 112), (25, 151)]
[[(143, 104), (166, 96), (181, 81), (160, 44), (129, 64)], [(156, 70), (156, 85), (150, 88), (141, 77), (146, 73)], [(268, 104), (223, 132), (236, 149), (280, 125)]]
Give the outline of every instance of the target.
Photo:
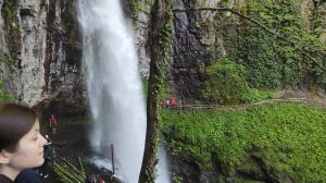
[(75, 2), (4, 0), (0, 5), (1, 77), (7, 89), (29, 106), (52, 103), (52, 112), (64, 111), (53, 106), (55, 101), (84, 110), (77, 101), (84, 97), (84, 80)]

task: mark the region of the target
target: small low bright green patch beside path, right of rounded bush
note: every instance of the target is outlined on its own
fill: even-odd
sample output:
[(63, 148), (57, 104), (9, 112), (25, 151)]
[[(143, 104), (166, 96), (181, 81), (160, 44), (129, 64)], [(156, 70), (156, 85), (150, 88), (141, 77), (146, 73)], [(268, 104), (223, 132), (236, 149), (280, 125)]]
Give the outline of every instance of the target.
[(259, 90), (259, 89), (248, 89), (241, 97), (241, 101), (244, 103), (259, 102), (265, 99), (277, 98), (277, 93), (273, 90)]

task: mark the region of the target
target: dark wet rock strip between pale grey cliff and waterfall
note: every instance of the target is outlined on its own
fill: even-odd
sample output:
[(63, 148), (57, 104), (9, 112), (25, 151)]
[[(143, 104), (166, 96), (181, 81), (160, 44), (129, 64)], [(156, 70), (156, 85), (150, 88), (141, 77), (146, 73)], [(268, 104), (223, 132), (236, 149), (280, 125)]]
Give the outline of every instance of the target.
[(77, 22), (77, 1), (49, 1), (47, 9), (47, 42), (43, 61), (41, 105), (49, 112), (85, 112), (87, 97), (82, 63), (82, 36)]

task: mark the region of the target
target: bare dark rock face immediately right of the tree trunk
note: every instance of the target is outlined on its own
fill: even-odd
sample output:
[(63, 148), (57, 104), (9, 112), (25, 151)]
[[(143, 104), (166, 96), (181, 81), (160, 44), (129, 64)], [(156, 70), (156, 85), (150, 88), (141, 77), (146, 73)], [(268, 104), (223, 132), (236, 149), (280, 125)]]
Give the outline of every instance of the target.
[[(199, 5), (196, 0), (175, 0), (174, 9), (216, 7), (220, 0), (205, 1)], [(174, 15), (173, 63), (168, 83), (174, 95), (195, 97), (201, 86), (204, 68), (212, 56), (208, 51), (214, 39), (210, 38), (204, 23), (210, 25), (212, 14), (201, 12), (178, 12)]]

